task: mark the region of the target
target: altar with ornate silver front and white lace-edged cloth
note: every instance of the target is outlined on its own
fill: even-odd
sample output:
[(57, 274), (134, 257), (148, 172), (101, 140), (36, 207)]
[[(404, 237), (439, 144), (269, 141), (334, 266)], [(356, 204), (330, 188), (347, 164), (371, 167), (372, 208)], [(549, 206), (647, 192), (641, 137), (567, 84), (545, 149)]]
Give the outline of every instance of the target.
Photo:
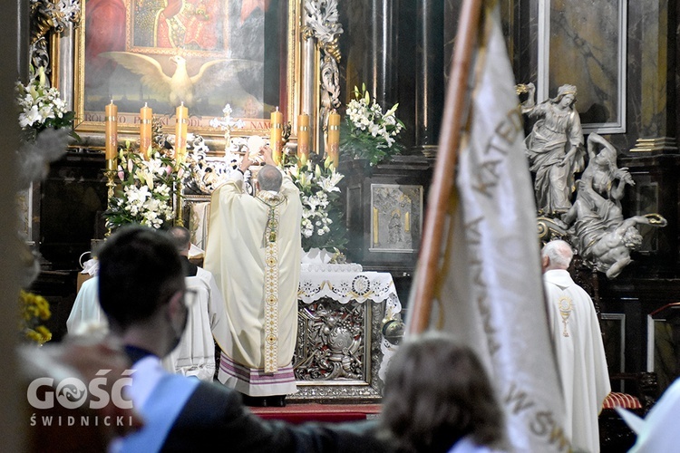
[[(334, 270), (329, 270), (333, 268)], [(361, 265), (303, 265), (290, 401), (380, 400), (395, 345), (384, 322), (402, 310), (392, 275)]]

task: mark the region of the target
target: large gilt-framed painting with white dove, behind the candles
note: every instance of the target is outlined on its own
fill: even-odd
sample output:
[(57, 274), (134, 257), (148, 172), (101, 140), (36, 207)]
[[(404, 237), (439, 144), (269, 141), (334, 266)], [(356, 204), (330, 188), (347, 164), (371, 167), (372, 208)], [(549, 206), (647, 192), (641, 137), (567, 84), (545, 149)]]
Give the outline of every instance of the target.
[[(170, 132), (182, 98), (189, 107), (189, 132), (208, 139), (224, 135), (209, 121), (222, 118), (227, 104), (231, 118), (243, 121), (230, 130), (232, 136), (266, 135), (270, 111), (276, 107), (285, 121), (295, 118), (302, 0), (178, 3), (180, 10), (164, 14), (172, 2), (83, 1), (73, 51), (61, 52), (73, 53), (73, 110), (79, 135), (103, 140), (104, 107), (110, 101), (118, 106), (119, 138), (139, 130), (139, 111), (145, 104)], [(199, 14), (208, 18), (210, 27), (200, 24)], [(177, 17), (174, 24), (184, 21), (181, 33), (172, 26)], [(67, 63), (59, 60), (53, 63), (60, 65), (62, 78), (68, 77)], [(158, 82), (161, 79), (165, 85)], [(183, 83), (176, 83), (180, 79)], [(189, 89), (181, 89), (187, 82)]]

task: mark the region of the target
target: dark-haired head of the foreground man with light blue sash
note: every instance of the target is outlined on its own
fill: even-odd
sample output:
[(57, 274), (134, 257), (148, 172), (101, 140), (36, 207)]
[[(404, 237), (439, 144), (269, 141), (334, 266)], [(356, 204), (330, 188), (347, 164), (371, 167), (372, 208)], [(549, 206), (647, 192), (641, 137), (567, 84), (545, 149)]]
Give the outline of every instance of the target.
[(99, 300), (123, 342), (167, 355), (187, 323), (186, 287), (177, 247), (144, 226), (126, 226), (99, 253)]

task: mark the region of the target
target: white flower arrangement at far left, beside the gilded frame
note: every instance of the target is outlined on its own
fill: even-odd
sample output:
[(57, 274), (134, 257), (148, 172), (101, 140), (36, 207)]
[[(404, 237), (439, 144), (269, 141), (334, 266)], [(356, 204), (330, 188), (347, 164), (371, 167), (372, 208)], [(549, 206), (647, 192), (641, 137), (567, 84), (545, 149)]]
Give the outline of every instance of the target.
[(21, 109), (19, 125), (28, 140), (35, 139), (37, 134), (45, 129), (73, 126), (75, 112), (66, 110), (66, 103), (61, 98), (59, 90), (47, 86), (42, 66), (26, 85), (16, 82), (16, 101)]

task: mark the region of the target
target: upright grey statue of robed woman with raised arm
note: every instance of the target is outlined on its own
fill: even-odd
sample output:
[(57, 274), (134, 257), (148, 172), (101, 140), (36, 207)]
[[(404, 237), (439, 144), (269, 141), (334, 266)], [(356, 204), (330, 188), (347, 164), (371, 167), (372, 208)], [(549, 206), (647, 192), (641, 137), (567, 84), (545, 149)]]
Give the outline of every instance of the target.
[(539, 214), (556, 216), (571, 207), (574, 174), (583, 169), (583, 131), (574, 109), (576, 87), (562, 85), (558, 95), (536, 105), (533, 83), (524, 85), (529, 98), (522, 112), (538, 120), (525, 141)]

